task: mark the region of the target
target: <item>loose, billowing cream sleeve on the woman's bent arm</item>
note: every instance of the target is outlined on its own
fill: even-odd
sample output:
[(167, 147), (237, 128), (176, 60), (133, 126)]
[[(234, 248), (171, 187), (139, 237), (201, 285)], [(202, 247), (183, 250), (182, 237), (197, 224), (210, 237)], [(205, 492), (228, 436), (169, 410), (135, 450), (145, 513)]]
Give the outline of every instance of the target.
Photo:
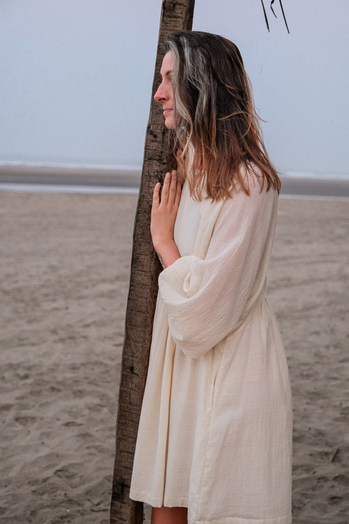
[(170, 334), (197, 358), (239, 327), (263, 288), (277, 194), (257, 182), (222, 205), (205, 259), (184, 256), (164, 269), (159, 292)]

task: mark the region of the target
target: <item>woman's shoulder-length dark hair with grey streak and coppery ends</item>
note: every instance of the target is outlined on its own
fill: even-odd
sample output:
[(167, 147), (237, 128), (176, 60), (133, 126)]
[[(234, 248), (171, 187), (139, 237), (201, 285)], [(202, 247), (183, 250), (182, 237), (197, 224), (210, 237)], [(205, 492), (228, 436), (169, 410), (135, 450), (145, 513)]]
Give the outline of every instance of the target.
[(247, 171), (261, 190), (266, 183), (267, 191), (279, 191), (237, 46), (201, 31), (176, 31), (165, 45), (173, 56), (175, 148), (190, 194), (198, 200), (202, 189), (213, 200), (239, 189), (250, 194)]

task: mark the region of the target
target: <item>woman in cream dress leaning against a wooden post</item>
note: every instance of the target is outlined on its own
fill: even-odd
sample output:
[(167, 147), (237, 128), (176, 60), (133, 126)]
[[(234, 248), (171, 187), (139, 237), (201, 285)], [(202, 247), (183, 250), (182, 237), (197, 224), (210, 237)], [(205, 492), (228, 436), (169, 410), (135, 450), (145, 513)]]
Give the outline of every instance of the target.
[(237, 47), (196, 31), (166, 46), (155, 100), (181, 169), (153, 195), (164, 270), (130, 496), (152, 524), (289, 524), (289, 379), (265, 292), (280, 181)]

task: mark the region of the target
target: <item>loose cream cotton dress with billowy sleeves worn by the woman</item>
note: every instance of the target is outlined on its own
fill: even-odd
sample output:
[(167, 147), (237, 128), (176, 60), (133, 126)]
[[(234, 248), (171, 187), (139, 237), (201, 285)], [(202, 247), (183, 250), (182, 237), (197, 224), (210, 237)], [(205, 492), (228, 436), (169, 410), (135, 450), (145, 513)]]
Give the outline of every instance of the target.
[(212, 203), (184, 183), (159, 295), (130, 497), (188, 524), (291, 522), (291, 397), (265, 292), (277, 193)]

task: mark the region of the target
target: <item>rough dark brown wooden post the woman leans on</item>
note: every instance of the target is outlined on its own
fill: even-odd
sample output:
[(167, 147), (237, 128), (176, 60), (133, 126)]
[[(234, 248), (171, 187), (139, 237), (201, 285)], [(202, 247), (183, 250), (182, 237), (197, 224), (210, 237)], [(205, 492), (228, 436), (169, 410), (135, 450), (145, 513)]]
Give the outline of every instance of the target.
[[(110, 523), (141, 524), (143, 504), (129, 498), (134, 449), (149, 363), (153, 316), (160, 264), (150, 235), (155, 183), (175, 167), (170, 155), (161, 104), (153, 99), (160, 83), (163, 43), (176, 29), (191, 29), (195, 0), (163, 0), (149, 122), (145, 137), (142, 179), (133, 231), (130, 288), (122, 351), (116, 453)], [(147, 450), (144, 450), (147, 453)]]

